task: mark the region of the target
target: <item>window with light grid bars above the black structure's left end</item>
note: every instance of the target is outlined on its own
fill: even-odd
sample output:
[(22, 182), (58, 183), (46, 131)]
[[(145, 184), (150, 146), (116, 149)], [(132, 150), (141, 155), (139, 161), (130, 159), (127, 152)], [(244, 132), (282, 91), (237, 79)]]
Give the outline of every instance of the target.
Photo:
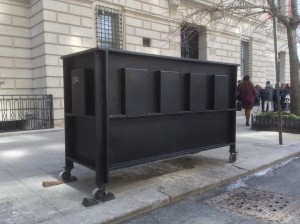
[(122, 49), (122, 12), (97, 6), (96, 20), (97, 46)]

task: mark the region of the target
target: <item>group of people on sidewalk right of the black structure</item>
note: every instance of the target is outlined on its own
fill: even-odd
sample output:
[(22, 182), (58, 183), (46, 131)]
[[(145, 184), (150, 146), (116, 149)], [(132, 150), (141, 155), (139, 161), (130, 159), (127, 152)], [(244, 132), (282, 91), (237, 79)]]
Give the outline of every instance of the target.
[[(279, 90), (280, 108), (282, 110), (289, 110), (289, 96), (291, 90), (289, 84), (282, 83)], [(262, 111), (277, 111), (277, 91), (271, 85), (270, 81), (266, 82), (265, 88), (260, 85), (254, 86), (250, 80), (249, 75), (243, 77), (243, 80), (238, 80), (237, 85), (237, 100), (242, 102), (245, 110), (246, 126), (250, 126), (249, 119), (251, 110), (254, 105), (262, 106)]]

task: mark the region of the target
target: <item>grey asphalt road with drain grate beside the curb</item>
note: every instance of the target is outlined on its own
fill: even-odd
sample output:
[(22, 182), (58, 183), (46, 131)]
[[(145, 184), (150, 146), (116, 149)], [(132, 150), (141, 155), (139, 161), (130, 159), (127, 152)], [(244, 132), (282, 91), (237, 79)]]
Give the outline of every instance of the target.
[(299, 162), (300, 158), (292, 159), (123, 223), (299, 224)]

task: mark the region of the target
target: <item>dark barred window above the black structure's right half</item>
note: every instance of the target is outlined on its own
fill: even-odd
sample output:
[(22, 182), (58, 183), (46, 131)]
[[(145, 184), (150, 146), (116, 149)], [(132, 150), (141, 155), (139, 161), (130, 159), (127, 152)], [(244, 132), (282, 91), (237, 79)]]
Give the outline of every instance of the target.
[(181, 28), (181, 57), (198, 59), (199, 57), (199, 32), (192, 26)]

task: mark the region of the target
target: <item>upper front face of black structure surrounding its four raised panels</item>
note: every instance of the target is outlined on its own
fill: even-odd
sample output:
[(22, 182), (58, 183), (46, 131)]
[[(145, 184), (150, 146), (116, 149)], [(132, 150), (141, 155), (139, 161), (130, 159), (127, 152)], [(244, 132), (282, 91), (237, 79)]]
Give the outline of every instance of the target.
[[(235, 85), (237, 69), (235, 65), (186, 60), (180, 58), (170, 58), (155, 55), (139, 54), (134, 52), (117, 52), (113, 50), (108, 51), (108, 107), (109, 115), (115, 116), (122, 114), (121, 110), (121, 68), (135, 68), (135, 69), (147, 69), (149, 75), (149, 112), (159, 112), (159, 103), (157, 102), (159, 96), (159, 75), (158, 71), (177, 71), (179, 73), (179, 111), (187, 110), (188, 103), (188, 89), (185, 85), (187, 81), (187, 73), (204, 73), (208, 77), (212, 77), (211, 74), (222, 74), (228, 76), (229, 92), (230, 94), (230, 108), (235, 107)], [(212, 92), (210, 92), (212, 90)], [(211, 85), (208, 85), (208, 110), (214, 108), (214, 80)]]

